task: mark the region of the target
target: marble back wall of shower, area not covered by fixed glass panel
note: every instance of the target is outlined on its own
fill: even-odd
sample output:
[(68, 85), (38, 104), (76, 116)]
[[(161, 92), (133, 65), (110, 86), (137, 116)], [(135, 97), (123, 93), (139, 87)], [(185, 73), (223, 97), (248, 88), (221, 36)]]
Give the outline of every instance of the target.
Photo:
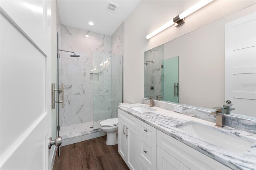
[[(60, 79), (65, 84), (61, 126), (94, 121), (93, 82), (90, 79), (93, 51), (110, 54), (111, 36), (65, 25), (62, 25), (61, 31), (60, 47), (80, 55), (70, 57), (70, 53), (60, 53)], [(90, 37), (84, 37), (86, 34)]]

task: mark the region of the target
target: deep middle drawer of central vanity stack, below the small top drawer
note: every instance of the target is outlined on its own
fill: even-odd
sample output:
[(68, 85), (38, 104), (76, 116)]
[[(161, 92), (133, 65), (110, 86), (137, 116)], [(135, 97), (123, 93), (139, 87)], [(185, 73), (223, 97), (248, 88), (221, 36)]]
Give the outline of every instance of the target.
[(156, 144), (139, 133), (138, 156), (140, 160), (151, 170), (156, 169)]

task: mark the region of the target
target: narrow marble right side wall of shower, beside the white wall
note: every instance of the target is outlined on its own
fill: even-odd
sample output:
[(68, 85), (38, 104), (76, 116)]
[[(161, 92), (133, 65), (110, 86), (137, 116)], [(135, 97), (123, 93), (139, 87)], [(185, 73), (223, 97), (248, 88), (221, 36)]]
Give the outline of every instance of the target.
[(123, 55), (124, 55), (124, 22), (111, 36), (112, 47), (112, 114), (111, 118), (118, 117), (118, 104), (122, 103), (123, 87)]

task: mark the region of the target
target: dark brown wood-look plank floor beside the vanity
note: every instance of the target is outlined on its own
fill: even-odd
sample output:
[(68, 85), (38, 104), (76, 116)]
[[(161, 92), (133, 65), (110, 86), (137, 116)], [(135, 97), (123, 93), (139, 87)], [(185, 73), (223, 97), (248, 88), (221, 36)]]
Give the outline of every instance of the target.
[(118, 145), (106, 145), (106, 136), (63, 146), (53, 170), (129, 170)]

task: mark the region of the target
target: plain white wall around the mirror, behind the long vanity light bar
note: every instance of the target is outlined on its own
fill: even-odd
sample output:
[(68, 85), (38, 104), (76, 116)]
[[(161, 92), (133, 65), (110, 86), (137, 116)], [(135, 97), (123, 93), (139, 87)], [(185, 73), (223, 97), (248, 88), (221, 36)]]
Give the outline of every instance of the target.
[(198, 1), (141, 1), (124, 22), (124, 102), (144, 97), (144, 51), (238, 12), (255, 1), (213, 1), (186, 17), (182, 26), (164, 30), (150, 40), (146, 35)]

